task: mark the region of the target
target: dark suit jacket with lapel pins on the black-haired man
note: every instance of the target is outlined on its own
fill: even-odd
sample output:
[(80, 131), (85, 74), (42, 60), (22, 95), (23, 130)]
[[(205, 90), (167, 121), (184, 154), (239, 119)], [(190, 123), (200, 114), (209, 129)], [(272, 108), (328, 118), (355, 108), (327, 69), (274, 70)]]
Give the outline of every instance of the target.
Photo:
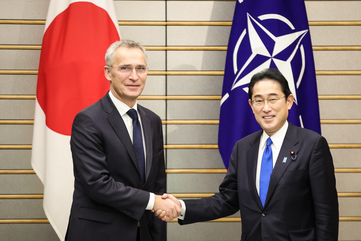
[[(184, 200), (185, 218), (178, 222), (208, 221), (240, 210), (242, 241), (337, 241), (338, 198), (326, 139), (289, 123), (262, 207), (256, 189), (261, 134), (262, 130), (236, 143), (219, 193)], [(291, 151), (297, 154), (295, 160)]]

